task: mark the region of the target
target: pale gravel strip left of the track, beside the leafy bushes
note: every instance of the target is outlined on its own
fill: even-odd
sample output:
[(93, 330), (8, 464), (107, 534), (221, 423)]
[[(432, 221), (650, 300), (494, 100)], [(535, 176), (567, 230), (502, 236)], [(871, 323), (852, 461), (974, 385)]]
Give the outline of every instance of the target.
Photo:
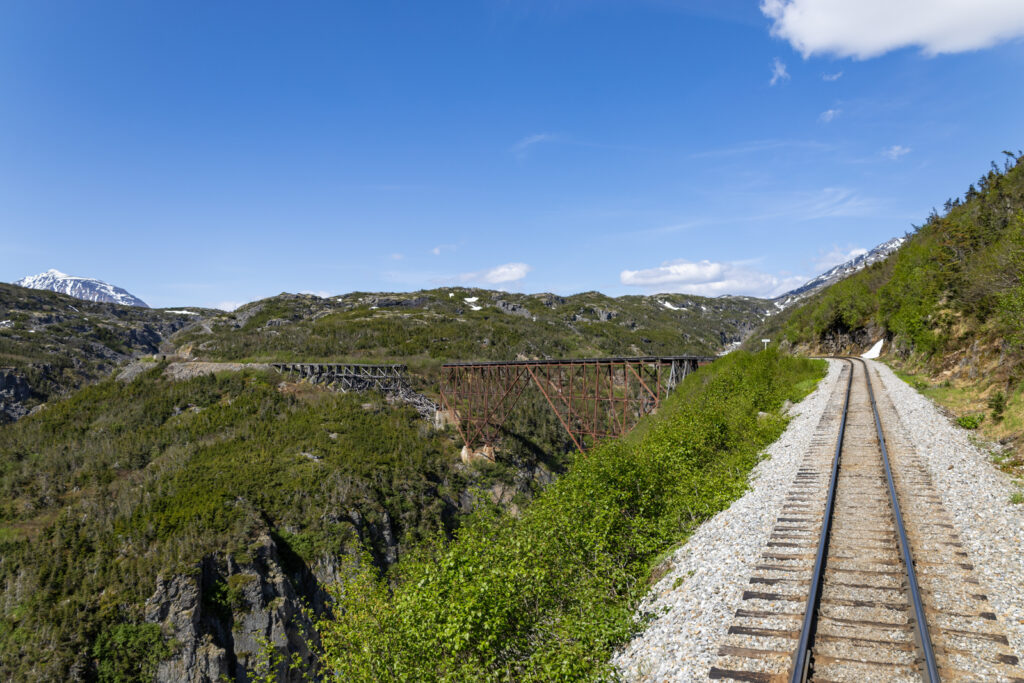
[(842, 367), (841, 361), (829, 360), (828, 374), (817, 389), (793, 409), (797, 417), (766, 450), (770, 458), (752, 471), (750, 490), (701, 524), (672, 555), (672, 569), (638, 608), (638, 616), (656, 616), (612, 657), (623, 679), (707, 678)]

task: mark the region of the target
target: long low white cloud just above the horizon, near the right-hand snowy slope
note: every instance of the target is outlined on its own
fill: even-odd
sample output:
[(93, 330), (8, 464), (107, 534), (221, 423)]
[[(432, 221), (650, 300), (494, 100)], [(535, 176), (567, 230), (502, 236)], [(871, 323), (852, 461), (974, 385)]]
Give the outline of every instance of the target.
[(750, 263), (667, 261), (654, 268), (623, 270), (618, 280), (623, 285), (641, 287), (650, 292), (683, 292), (698, 296), (745, 294), (774, 297), (803, 285), (803, 275), (779, 275), (762, 272)]

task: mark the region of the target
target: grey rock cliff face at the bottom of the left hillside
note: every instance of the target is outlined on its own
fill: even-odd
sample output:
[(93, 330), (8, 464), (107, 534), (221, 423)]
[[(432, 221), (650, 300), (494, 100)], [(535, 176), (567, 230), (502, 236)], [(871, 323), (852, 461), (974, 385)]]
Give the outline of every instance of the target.
[(298, 683), (312, 671), (315, 635), (303, 605), (323, 611), (325, 596), (308, 567), (282, 554), (264, 533), (247, 561), (212, 555), (191, 573), (158, 580), (145, 618), (180, 647), (160, 665), (157, 681), (248, 683), (272, 675)]

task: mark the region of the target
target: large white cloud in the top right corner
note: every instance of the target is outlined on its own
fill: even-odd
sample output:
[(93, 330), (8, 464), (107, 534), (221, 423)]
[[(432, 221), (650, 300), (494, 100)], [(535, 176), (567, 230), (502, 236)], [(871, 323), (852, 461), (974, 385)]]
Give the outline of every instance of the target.
[(805, 57), (867, 59), (910, 46), (933, 56), (1024, 36), (1020, 0), (761, 0), (761, 11)]

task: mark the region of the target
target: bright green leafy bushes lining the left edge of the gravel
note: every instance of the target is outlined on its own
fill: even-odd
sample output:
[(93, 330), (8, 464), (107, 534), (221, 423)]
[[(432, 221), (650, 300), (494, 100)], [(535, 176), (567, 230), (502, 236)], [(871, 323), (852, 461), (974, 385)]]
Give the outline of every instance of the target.
[[(475, 514), (407, 557), (393, 588), (368, 562), (333, 590), (323, 666), (345, 681), (579, 681), (610, 674), (651, 562), (746, 486), (822, 361), (733, 353), (691, 375), (518, 519)], [(758, 413), (770, 413), (758, 419)]]

